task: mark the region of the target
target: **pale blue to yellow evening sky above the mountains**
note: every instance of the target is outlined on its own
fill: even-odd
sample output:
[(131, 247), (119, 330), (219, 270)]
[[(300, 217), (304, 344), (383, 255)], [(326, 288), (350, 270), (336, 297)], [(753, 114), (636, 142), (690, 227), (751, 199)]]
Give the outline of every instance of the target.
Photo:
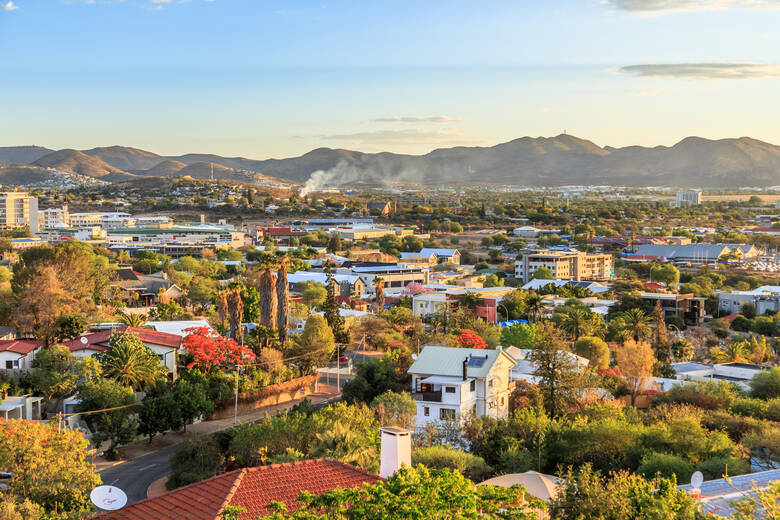
[(780, 0), (0, 0), (0, 146), (780, 144)]

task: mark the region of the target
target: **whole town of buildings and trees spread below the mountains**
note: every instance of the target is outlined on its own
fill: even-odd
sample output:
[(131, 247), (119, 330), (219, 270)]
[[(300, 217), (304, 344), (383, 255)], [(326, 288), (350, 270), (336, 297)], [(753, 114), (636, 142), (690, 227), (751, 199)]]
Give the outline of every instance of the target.
[(124, 507), (97, 518), (298, 518), (417, 481), (518, 518), (636, 489), (729, 517), (774, 489), (772, 188), (172, 186), (0, 194), (22, 518), (90, 517), (101, 481)]

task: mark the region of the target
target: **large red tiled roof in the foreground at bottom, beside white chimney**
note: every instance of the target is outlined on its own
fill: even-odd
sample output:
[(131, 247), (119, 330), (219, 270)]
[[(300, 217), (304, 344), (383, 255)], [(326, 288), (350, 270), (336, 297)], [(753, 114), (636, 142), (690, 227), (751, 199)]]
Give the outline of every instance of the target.
[(268, 514), (266, 506), (271, 502), (284, 502), (290, 511), (296, 510), (301, 491), (321, 494), (379, 480), (376, 475), (329, 459), (272, 464), (231, 471), (93, 518), (217, 520), (230, 505), (246, 509), (240, 518), (250, 520)]

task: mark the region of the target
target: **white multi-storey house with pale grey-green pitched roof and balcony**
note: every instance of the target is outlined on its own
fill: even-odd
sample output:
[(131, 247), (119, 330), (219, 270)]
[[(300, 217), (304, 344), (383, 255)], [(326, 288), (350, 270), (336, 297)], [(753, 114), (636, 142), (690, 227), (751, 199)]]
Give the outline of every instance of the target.
[(407, 373), (417, 402), (417, 427), (509, 413), (510, 371), (515, 360), (497, 350), (425, 346)]

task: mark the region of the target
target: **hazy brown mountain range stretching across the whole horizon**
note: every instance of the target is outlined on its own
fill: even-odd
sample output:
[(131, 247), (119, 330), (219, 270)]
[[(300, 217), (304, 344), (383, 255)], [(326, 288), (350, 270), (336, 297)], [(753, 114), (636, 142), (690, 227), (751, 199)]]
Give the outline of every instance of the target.
[[(600, 147), (568, 134), (522, 137), (491, 147), (440, 148), (425, 155), (318, 148), (299, 157), (255, 160), (192, 153), (161, 156), (137, 148), (50, 150), (0, 147), (0, 183), (20, 177), (19, 168), (55, 168), (123, 182), (143, 176), (210, 178), (256, 182), (283, 179), (310, 188), (356, 182), (429, 184), (497, 183), (556, 186), (738, 187), (780, 184), (780, 147), (749, 137), (710, 140), (687, 137), (674, 146)], [(38, 169), (29, 169), (30, 175)], [(316, 172), (316, 173), (315, 173)], [(314, 174), (314, 175), (312, 175)], [(13, 178), (12, 178), (13, 177)]]

